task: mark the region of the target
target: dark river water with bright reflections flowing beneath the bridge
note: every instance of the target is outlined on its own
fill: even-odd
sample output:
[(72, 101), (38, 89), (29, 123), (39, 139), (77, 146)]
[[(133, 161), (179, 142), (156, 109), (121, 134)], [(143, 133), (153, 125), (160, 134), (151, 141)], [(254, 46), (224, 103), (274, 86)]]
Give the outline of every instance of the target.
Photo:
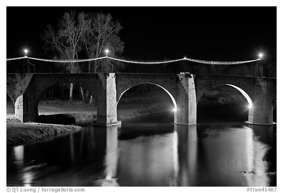
[(7, 186), (276, 186), (276, 126), (171, 113), (7, 148)]

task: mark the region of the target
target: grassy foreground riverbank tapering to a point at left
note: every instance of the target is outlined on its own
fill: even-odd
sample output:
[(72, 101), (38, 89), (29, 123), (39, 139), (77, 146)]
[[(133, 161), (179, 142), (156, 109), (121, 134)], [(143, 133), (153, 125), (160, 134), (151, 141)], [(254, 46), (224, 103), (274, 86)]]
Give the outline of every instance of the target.
[(6, 145), (17, 146), (28, 144), (37, 140), (42, 140), (51, 136), (67, 132), (76, 132), (81, 129), (75, 125), (54, 125), (42, 123), (6, 123)]

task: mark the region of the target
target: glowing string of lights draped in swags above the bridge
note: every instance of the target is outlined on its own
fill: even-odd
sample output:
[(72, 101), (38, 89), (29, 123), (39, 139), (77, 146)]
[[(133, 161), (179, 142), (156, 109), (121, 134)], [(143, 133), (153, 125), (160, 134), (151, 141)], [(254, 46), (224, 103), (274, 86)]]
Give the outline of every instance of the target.
[(59, 62), (59, 63), (85, 62), (85, 61), (93, 61), (93, 60), (109, 58), (109, 59), (112, 59), (112, 60), (121, 61), (121, 62), (128, 62), (128, 63), (133, 63), (133, 64), (165, 64), (165, 63), (171, 63), (171, 62), (176, 62), (176, 61), (181, 61), (181, 60), (189, 60), (189, 61), (192, 61), (192, 62), (198, 62), (198, 63), (202, 63), (202, 64), (211, 64), (211, 65), (244, 64), (244, 63), (254, 62), (254, 61), (258, 61), (258, 60), (262, 59), (262, 58), (258, 58), (258, 59), (246, 60), (246, 61), (206, 61), (206, 60), (199, 60), (199, 59), (192, 59), (192, 58), (184, 57), (184, 58), (181, 58), (181, 59), (172, 59), (172, 60), (138, 61), (138, 60), (119, 59), (119, 58), (109, 57), (108, 55), (106, 55), (106, 56), (103, 56), (103, 57), (88, 58), (88, 59), (43, 59), (43, 58), (35, 58), (35, 57), (24, 56), (24, 57), (8, 58), (8, 59), (6, 59), (6, 61), (23, 59), (23, 58), (34, 59), (34, 60), (45, 61), (45, 62)]

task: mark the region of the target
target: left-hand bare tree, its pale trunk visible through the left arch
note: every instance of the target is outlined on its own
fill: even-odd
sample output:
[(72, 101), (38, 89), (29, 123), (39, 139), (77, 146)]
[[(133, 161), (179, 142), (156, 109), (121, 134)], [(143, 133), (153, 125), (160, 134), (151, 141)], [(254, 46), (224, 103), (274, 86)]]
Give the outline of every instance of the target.
[[(77, 59), (81, 49), (79, 41), (84, 31), (81, 16), (82, 14), (77, 15), (74, 11), (66, 12), (56, 29), (48, 25), (42, 35), (47, 44), (46, 48), (61, 59)], [(65, 64), (65, 69), (68, 73), (75, 73), (79, 71), (79, 66), (76, 63)], [(73, 83), (70, 83), (69, 100), (70, 102), (73, 100)]]

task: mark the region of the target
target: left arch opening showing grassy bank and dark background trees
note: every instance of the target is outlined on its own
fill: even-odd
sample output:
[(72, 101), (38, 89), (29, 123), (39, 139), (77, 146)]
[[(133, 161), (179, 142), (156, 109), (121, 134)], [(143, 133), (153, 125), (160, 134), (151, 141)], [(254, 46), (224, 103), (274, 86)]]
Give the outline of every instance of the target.
[(76, 121), (94, 120), (97, 117), (97, 102), (84, 86), (73, 84), (73, 103), (69, 102), (69, 94), (70, 83), (57, 83), (41, 90), (36, 97), (38, 122), (73, 124)]

